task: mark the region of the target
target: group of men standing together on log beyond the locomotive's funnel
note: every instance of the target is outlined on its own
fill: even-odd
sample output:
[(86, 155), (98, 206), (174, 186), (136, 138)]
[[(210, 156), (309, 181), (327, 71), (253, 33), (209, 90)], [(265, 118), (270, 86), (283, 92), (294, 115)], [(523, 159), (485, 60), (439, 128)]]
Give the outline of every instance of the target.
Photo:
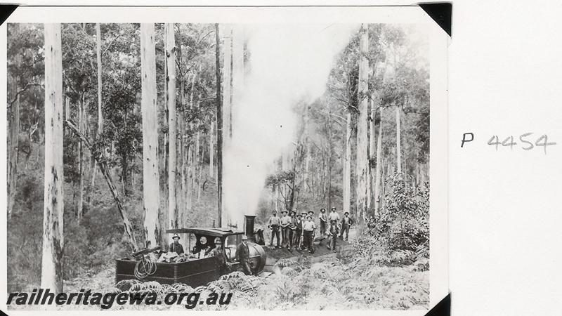
[[(277, 216), (277, 211), (273, 211), (268, 221), (268, 228), (271, 232), (269, 246), (273, 246), (273, 238), (275, 238), (277, 248), (287, 247), (289, 250), (308, 250), (308, 252), (314, 254), (316, 224), (313, 218), (314, 211), (308, 211), (308, 213), (301, 212), (300, 214), (296, 214), (296, 211), (291, 211), (290, 216), (287, 211), (281, 211), (281, 217)], [(348, 240), (349, 228), (353, 224), (353, 220), (349, 217), (349, 212), (345, 212), (344, 217), (340, 218), (335, 207), (332, 207), (329, 214), (326, 214), (326, 209), (320, 209), (320, 216), (318, 218), (320, 222), (320, 235), (332, 237), (329, 248), (332, 251), (336, 251), (338, 234), (340, 239)]]

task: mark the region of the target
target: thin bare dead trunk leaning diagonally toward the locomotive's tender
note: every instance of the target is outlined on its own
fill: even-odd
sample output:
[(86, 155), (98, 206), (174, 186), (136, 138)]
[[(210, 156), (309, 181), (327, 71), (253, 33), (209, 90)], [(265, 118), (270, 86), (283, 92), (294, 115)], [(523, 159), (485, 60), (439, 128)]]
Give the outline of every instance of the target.
[(129, 218), (127, 217), (126, 211), (123, 208), (121, 200), (119, 199), (119, 194), (117, 193), (117, 187), (115, 187), (115, 184), (113, 183), (110, 169), (107, 166), (107, 163), (102, 159), (100, 159), (100, 153), (97, 152), (96, 150), (93, 150), (90, 140), (88, 140), (88, 138), (86, 138), (84, 135), (82, 135), (82, 133), (80, 133), (79, 129), (77, 128), (76, 125), (74, 125), (74, 123), (72, 123), (72, 121), (66, 120), (65, 125), (74, 134), (76, 134), (84, 142), (84, 144), (86, 144), (86, 146), (89, 148), (93, 156), (93, 159), (96, 159), (96, 163), (98, 164), (98, 167), (101, 173), (103, 174), (105, 181), (107, 181), (107, 186), (109, 186), (111, 194), (113, 195), (115, 204), (117, 204), (117, 209), (119, 209), (119, 215), (121, 215), (121, 218), (123, 219), (123, 226), (125, 229), (125, 234), (127, 235), (127, 239), (129, 239), (129, 243), (133, 247), (133, 252), (138, 251), (138, 246), (136, 243), (135, 235), (133, 234), (133, 228), (131, 226), (131, 222), (129, 222)]

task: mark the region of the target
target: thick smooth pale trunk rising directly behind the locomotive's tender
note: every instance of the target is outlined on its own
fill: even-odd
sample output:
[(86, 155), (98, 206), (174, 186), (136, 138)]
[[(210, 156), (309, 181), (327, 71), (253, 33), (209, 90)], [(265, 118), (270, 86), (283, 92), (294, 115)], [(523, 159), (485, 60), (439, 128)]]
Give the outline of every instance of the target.
[(154, 24), (141, 23), (141, 111), (143, 115), (143, 199), (145, 242), (159, 243), (158, 119)]

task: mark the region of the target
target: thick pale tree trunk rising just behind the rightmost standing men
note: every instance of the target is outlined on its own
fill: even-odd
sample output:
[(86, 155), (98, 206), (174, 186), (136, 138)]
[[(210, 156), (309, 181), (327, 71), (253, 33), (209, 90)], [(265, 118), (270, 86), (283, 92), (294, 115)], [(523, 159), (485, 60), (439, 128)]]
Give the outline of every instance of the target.
[(367, 195), (369, 193), (369, 157), (367, 155), (368, 135), (367, 135), (367, 89), (369, 80), (369, 32), (368, 25), (362, 24), (360, 29), (359, 49), (359, 83), (358, 83), (358, 110), (357, 120), (357, 223), (358, 231), (362, 232), (365, 226), (368, 205)]

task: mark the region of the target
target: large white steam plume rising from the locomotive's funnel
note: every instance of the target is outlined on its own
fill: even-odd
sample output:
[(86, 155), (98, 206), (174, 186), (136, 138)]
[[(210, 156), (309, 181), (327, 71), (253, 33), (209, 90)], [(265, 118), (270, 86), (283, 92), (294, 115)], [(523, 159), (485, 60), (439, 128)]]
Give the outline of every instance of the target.
[[(270, 166), (295, 138), (297, 102), (325, 91), (329, 72), (358, 25), (248, 25), (244, 89), (233, 100), (233, 139), (224, 153), (223, 205), (241, 228), (256, 213)], [(226, 223), (223, 223), (226, 224)]]

